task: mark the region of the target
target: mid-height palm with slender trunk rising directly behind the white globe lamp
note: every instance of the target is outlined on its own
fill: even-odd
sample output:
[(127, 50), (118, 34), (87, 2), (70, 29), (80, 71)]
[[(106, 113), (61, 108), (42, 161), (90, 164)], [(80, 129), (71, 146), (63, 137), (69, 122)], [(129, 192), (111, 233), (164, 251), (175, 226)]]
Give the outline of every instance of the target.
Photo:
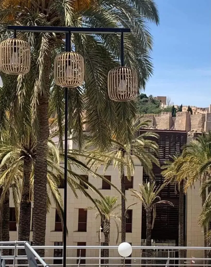
[[(102, 155), (96, 154), (98, 151), (91, 151), (92, 159), (88, 160), (88, 164), (91, 167), (98, 169), (102, 161), (104, 162), (104, 172), (107, 170), (108, 166), (113, 165), (114, 168), (119, 168), (119, 176), (121, 181), (121, 242), (125, 242), (126, 239), (126, 218), (125, 218), (125, 172), (124, 168), (126, 167), (127, 179), (131, 180), (131, 175), (134, 172), (134, 159), (138, 159), (141, 165), (143, 166), (144, 172), (153, 177), (153, 163), (159, 166), (158, 159), (154, 155), (158, 155), (158, 144), (151, 140), (157, 139), (158, 135), (154, 132), (144, 132), (140, 135), (138, 133), (139, 129), (148, 125), (149, 121), (139, 122), (140, 118), (133, 123), (132, 129), (130, 132), (134, 138), (127, 139), (127, 142), (121, 142), (121, 136), (118, 132), (115, 132), (114, 138), (111, 139), (113, 147), (111, 151), (102, 153)], [(129, 128), (129, 126), (128, 126)], [(120, 131), (121, 132), (121, 131)], [(135, 137), (137, 136), (137, 137)], [(125, 140), (126, 138), (122, 138)], [(90, 146), (88, 143), (87, 146)]]

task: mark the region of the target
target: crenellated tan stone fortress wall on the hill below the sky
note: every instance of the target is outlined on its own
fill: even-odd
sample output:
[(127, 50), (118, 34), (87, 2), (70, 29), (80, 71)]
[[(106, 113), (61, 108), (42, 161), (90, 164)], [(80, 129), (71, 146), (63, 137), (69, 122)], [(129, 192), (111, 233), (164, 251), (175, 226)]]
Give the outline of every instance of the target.
[(144, 114), (141, 120), (146, 119), (151, 120), (149, 127), (154, 129), (208, 132), (211, 130), (211, 105), (206, 112), (201, 110), (201, 113), (197, 111), (193, 112), (193, 115), (185, 109), (185, 111), (177, 112), (176, 117), (172, 117), (171, 112), (162, 112), (161, 114)]

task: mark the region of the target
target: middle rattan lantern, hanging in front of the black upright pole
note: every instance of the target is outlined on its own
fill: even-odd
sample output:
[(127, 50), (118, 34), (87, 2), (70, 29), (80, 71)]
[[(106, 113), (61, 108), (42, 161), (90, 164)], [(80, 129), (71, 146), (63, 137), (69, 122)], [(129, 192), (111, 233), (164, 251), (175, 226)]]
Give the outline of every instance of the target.
[(84, 82), (84, 58), (73, 52), (58, 54), (54, 60), (55, 83), (62, 87), (77, 87)]

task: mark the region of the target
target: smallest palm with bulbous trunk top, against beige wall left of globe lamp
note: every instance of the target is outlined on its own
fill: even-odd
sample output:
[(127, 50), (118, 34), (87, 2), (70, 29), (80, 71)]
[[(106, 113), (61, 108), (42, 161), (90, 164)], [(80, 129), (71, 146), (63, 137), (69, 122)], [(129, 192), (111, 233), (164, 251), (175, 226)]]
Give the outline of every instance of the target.
[[(97, 210), (97, 213), (95, 214), (95, 218), (97, 219), (99, 216), (101, 216), (102, 223), (103, 223), (103, 234), (104, 234), (104, 245), (109, 246), (109, 235), (110, 235), (110, 221), (111, 219), (114, 219), (117, 227), (117, 232), (119, 235), (119, 226), (115, 219), (118, 219), (120, 221), (121, 214), (116, 211), (116, 209), (119, 209), (121, 204), (116, 203), (118, 200), (118, 197), (110, 197), (105, 196), (105, 200), (103, 199), (94, 199), (96, 206), (95, 207), (87, 207), (86, 210)], [(100, 211), (100, 212), (99, 212)], [(117, 242), (118, 242), (118, 236), (117, 236)], [(116, 242), (116, 243), (117, 243)], [(109, 257), (109, 250), (104, 249), (104, 257)], [(104, 261), (104, 264), (108, 264), (108, 259)]]

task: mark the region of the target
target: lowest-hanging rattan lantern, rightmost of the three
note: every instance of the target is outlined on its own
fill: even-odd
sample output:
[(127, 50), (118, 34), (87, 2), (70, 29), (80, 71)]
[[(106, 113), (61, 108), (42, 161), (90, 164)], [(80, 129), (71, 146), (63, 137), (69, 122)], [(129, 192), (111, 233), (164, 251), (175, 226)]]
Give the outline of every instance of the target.
[(135, 70), (118, 67), (108, 73), (108, 96), (114, 101), (131, 101), (138, 95), (138, 79)]

